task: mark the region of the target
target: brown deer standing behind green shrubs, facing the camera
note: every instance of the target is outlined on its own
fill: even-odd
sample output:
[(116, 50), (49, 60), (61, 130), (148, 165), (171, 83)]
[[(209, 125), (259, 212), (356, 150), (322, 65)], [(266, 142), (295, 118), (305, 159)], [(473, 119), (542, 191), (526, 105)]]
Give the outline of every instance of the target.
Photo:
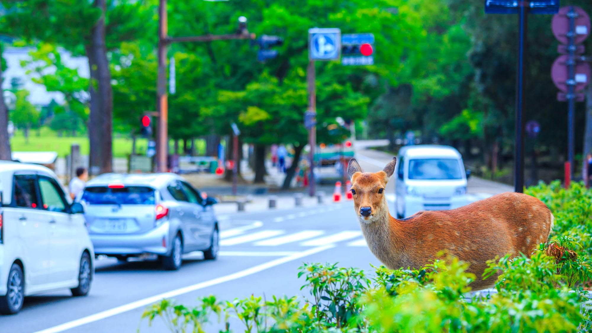
[(469, 285), (472, 289), (487, 289), (497, 280), (497, 275), (481, 277), (488, 260), (506, 254), (530, 257), (549, 238), (555, 219), (551, 210), (538, 198), (514, 192), (395, 219), (388, 212), (384, 191), (396, 164), (393, 157), (378, 172), (362, 172), (355, 158), (348, 164), (363, 236), (372, 254), (391, 270), (422, 268), (446, 251), (469, 264), (467, 271), (476, 276)]

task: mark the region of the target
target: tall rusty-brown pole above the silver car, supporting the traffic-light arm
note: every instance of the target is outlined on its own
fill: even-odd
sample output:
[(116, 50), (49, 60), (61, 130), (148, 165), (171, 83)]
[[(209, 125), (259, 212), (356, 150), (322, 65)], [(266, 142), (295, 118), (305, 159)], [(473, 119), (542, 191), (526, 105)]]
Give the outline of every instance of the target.
[(166, 0), (160, 0), (158, 7), (158, 79), (156, 84), (156, 108), (158, 117), (158, 134), (156, 146), (156, 169), (159, 172), (167, 171), (168, 155), (168, 100), (166, 95), (166, 49), (167, 41), (167, 19)]

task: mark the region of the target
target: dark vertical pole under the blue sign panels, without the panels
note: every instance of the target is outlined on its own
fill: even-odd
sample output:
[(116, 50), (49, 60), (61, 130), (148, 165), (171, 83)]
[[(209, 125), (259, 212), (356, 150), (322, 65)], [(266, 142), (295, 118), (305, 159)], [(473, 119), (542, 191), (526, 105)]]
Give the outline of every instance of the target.
[(527, 4), (518, 9), (518, 65), (516, 71), (516, 148), (514, 149), (514, 191), (524, 189), (524, 67), (526, 53)]

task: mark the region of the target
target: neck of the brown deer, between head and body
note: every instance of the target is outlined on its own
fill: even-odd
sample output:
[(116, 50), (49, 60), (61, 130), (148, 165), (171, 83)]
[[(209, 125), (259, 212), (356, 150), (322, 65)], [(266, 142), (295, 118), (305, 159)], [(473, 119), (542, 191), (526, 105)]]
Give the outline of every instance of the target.
[(388, 268), (412, 266), (413, 262), (406, 252), (410, 244), (404, 236), (404, 226), (388, 212), (387, 203), (382, 207), (375, 213), (374, 222), (360, 223), (370, 251)]

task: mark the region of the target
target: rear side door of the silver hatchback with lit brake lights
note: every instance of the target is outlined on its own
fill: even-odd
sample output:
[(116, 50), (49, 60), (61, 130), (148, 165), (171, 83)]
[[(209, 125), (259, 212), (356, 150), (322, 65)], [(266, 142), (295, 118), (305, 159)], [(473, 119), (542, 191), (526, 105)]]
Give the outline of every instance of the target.
[(201, 239), (196, 237), (194, 234), (195, 230), (195, 218), (194, 218), (194, 205), (189, 203), (187, 193), (183, 189), (181, 182), (173, 180), (167, 186), (167, 190), (170, 195), (175, 198), (175, 214), (181, 220), (181, 229), (183, 230), (183, 242), (184, 251), (193, 251), (200, 246)]

